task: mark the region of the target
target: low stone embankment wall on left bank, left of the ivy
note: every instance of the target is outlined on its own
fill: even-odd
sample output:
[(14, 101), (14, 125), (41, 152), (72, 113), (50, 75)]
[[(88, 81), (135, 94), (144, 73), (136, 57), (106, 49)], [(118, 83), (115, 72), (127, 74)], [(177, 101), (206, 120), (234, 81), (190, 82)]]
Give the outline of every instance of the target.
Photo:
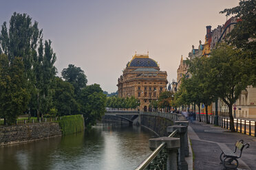
[(0, 146), (61, 136), (58, 123), (0, 126)]

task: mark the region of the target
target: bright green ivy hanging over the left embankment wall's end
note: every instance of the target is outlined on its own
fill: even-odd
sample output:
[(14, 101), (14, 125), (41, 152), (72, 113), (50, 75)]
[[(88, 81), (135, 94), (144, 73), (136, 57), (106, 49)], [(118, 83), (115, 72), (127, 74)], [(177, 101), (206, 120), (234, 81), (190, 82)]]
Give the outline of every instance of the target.
[(85, 129), (83, 115), (81, 114), (61, 117), (61, 120), (58, 121), (58, 124), (61, 127), (62, 135), (83, 132)]

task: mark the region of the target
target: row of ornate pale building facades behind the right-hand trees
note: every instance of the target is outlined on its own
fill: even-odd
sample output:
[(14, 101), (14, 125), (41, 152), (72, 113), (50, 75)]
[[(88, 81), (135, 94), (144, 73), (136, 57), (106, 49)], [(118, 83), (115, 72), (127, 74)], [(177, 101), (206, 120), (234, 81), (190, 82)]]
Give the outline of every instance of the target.
[[(191, 52), (189, 52), (189, 59), (200, 58), (202, 56), (209, 57), (211, 56), (211, 51), (215, 49), (218, 42), (222, 42), (226, 35), (232, 31), (235, 27), (235, 24), (239, 21), (235, 17), (228, 19), (224, 25), (218, 25), (217, 28), (211, 30), (211, 26), (206, 26), (206, 36), (204, 45), (201, 44), (198, 49), (194, 49), (192, 46)], [(183, 60), (183, 59), (182, 59)], [(187, 66), (184, 66), (184, 62), (180, 62), (180, 66), (177, 70), (177, 83), (173, 83), (173, 88), (180, 85), (181, 75), (180, 73), (186, 72), (188, 69)], [(188, 73), (189, 74), (189, 73)], [(174, 91), (173, 91), (174, 92)], [(253, 86), (248, 86), (246, 90), (242, 91), (242, 94), (239, 96), (239, 99), (233, 105), (233, 116), (240, 118), (256, 118), (256, 88)], [(208, 108), (209, 113), (215, 114), (215, 103), (211, 104)], [(218, 99), (217, 102), (218, 114), (221, 116), (228, 116), (228, 106)], [(198, 112), (198, 108), (197, 108)], [(200, 110), (200, 112), (205, 112), (205, 109)]]

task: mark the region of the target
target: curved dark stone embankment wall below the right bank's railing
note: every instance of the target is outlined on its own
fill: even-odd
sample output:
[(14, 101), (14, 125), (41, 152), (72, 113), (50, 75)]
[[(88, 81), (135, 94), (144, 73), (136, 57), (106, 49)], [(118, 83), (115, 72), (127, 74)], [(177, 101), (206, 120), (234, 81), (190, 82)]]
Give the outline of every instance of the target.
[(159, 136), (168, 136), (167, 127), (173, 125), (173, 121), (164, 117), (141, 115), (140, 125), (153, 130)]

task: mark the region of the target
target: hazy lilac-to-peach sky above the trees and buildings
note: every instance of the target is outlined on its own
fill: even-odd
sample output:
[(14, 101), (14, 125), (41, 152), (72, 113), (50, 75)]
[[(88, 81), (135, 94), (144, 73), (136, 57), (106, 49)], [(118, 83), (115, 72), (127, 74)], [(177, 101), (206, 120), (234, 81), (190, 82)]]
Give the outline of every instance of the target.
[(226, 22), (220, 14), (238, 0), (0, 0), (0, 25), (13, 12), (39, 22), (52, 40), (58, 76), (68, 64), (81, 67), (88, 84), (116, 92), (118, 77), (137, 53), (147, 53), (177, 79), (180, 58), (204, 43), (206, 26)]

